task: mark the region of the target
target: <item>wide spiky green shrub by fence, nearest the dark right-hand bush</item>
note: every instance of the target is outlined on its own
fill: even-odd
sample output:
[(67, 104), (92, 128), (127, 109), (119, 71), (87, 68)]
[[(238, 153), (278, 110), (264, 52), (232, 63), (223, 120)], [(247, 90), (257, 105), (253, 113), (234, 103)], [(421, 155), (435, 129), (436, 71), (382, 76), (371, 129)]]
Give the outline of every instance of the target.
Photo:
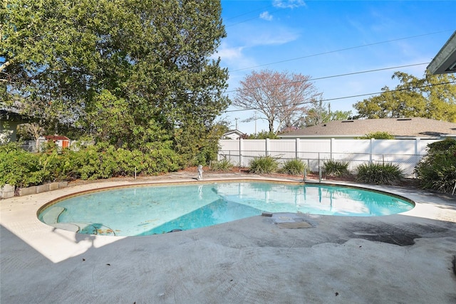
[(398, 184), (403, 172), (395, 164), (361, 164), (356, 168), (356, 181), (366, 184)]

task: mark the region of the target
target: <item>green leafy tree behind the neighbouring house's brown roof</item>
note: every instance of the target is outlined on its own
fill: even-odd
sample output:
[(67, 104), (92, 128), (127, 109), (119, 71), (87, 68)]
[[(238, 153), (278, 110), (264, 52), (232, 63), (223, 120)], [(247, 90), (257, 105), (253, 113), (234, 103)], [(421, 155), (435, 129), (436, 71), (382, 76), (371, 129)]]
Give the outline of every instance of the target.
[(456, 76), (450, 74), (416, 78), (395, 72), (400, 84), (394, 90), (387, 86), (380, 95), (353, 105), (359, 118), (425, 117), (456, 122)]

